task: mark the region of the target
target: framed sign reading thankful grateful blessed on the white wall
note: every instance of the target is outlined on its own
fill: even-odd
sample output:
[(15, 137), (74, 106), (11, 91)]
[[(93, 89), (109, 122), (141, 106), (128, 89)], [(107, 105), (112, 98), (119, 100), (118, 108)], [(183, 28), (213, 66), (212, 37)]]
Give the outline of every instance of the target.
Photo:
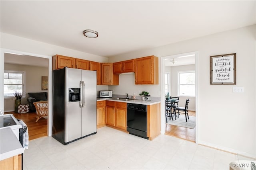
[(211, 84), (236, 84), (236, 53), (211, 56)]

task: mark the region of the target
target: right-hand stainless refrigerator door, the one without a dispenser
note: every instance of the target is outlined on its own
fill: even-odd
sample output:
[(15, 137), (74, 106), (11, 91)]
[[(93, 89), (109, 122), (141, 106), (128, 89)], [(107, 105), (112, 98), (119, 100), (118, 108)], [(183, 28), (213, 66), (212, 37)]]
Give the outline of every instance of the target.
[(84, 86), (82, 107), (82, 137), (97, 131), (96, 121), (96, 71), (82, 70), (82, 82)]

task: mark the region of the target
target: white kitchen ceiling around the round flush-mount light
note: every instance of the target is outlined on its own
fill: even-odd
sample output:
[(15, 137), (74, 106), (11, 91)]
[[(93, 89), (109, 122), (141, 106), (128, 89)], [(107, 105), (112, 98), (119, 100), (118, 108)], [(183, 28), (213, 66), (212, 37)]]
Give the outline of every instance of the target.
[[(256, 1), (0, 1), (1, 32), (111, 57), (256, 23)], [(99, 37), (84, 37), (85, 29)]]

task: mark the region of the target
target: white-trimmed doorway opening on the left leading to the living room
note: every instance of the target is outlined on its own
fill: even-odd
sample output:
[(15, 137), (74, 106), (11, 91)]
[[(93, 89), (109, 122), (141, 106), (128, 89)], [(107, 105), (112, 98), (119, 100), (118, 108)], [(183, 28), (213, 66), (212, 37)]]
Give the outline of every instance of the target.
[[(1, 64), (0, 72), (2, 75), (6, 70), (8, 71), (22, 71), (24, 72), (23, 82), (22, 82), (22, 89), (16, 89), (17, 91), (22, 92), (21, 104), (27, 105), (28, 98), (31, 97), (28, 93), (42, 93), (46, 95), (46, 100), (48, 99), (48, 104), (52, 102), (51, 100), (51, 93), (52, 90), (52, 82), (51, 82), (51, 70), (52, 70), (52, 61), (50, 60), (50, 56), (43, 56), (43, 55), (34, 55), (31, 53), (24, 53), (20, 51), (12, 51), (7, 49), (1, 49)], [(45, 78), (48, 77), (48, 85), (45, 87), (45, 82), (42, 82), (42, 76)], [(0, 77), (2, 86), (4, 88), (1, 89), (0, 94), (2, 94), (2, 104), (1, 110), (4, 114), (13, 114), (14, 117), (17, 119), (21, 119), (26, 123), (29, 129), (29, 139), (36, 139), (42, 136), (51, 135), (52, 127), (50, 126), (51, 119), (51, 108), (48, 107), (48, 117), (43, 117), (36, 122), (36, 110), (30, 110), (28, 113), (17, 113), (14, 111), (14, 96), (6, 96), (6, 90), (12, 90), (11, 86), (8, 87), (6, 85), (6, 77)], [(8, 84), (8, 83), (7, 83)], [(42, 87), (42, 85), (44, 85)], [(46, 90), (47, 88), (47, 90)], [(7, 90), (8, 91), (8, 90)]]

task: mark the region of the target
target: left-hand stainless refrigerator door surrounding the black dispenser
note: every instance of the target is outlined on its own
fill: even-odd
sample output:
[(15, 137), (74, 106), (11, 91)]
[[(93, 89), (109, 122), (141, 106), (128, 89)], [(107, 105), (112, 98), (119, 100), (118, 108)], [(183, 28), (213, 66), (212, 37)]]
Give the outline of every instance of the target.
[(69, 102), (69, 88), (81, 88), (80, 81), (82, 81), (82, 70), (65, 68), (65, 71), (64, 142), (66, 143), (82, 137), (82, 109), (79, 107), (80, 102)]

